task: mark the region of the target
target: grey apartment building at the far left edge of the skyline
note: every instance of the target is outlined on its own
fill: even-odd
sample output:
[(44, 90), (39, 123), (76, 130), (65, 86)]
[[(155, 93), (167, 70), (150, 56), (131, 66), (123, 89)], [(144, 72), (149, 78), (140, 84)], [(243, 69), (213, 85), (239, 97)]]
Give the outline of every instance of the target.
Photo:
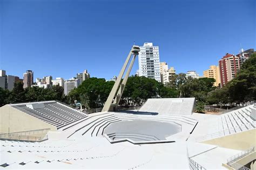
[(14, 89), (15, 78), (17, 79), (18, 77), (6, 75), (5, 70), (0, 70), (0, 87), (6, 90)]

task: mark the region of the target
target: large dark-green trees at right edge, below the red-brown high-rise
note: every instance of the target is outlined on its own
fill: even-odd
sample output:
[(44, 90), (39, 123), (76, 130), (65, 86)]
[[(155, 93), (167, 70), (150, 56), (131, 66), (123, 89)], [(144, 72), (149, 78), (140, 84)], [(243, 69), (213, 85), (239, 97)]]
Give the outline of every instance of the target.
[(242, 64), (237, 76), (223, 88), (208, 93), (208, 105), (245, 104), (256, 100), (256, 54)]

